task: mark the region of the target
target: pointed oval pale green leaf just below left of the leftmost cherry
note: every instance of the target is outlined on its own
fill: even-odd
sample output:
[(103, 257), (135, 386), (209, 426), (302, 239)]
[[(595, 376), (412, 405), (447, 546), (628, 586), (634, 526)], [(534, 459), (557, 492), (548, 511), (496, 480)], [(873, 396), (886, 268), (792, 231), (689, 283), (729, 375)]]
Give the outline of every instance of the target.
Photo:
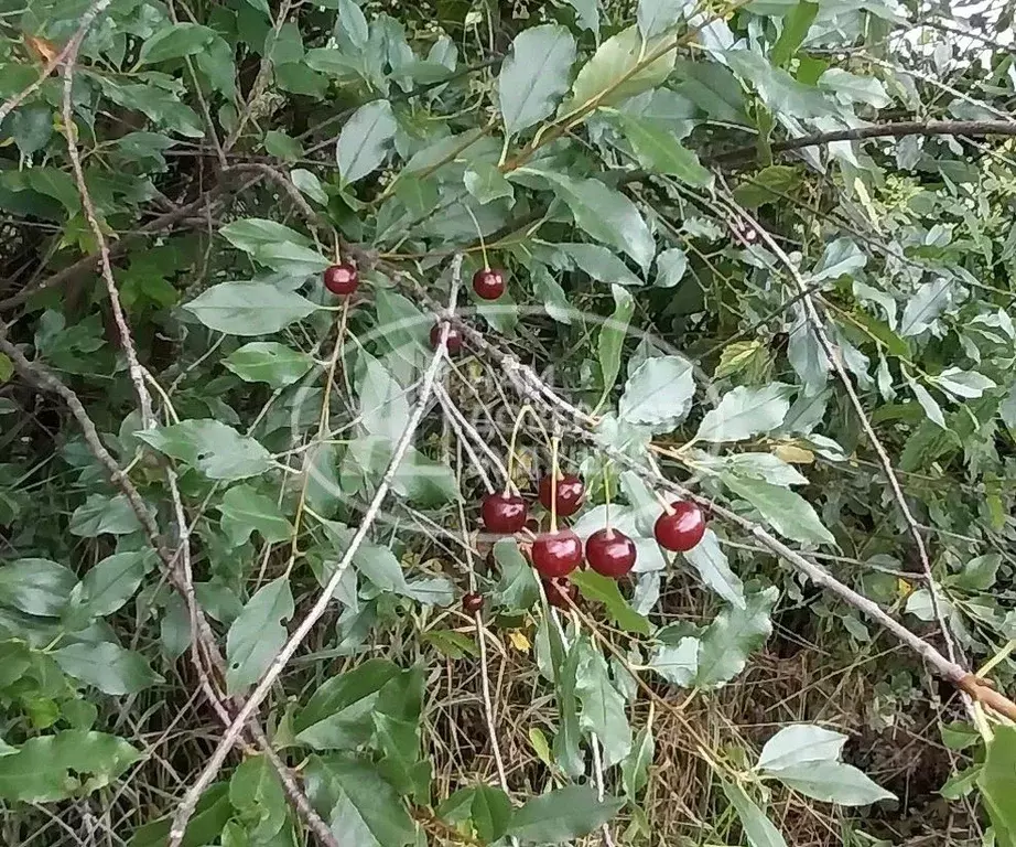
[(268, 335), (317, 310), (268, 282), (220, 282), (184, 305), (205, 326), (229, 335)]

